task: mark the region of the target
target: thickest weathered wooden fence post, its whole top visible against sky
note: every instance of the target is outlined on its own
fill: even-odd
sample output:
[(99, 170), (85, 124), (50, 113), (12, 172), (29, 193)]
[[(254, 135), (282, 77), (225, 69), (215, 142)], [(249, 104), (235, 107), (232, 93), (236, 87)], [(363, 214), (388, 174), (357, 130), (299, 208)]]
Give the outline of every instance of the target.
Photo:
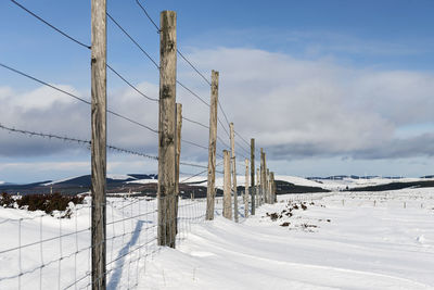
[(175, 248), (176, 13), (161, 13), (158, 117), (158, 245)]

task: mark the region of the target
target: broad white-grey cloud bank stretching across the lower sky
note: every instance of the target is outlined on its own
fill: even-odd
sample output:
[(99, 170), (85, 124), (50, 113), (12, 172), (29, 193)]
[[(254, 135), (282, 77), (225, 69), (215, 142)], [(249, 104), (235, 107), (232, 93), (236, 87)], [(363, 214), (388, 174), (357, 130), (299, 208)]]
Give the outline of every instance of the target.
[[(202, 71), (220, 72), (220, 102), (234, 122), (235, 130), (245, 138), (256, 138), (258, 146), (270, 149), (276, 159), (311, 155), (374, 155), (376, 159), (381, 156), (369, 152), (385, 152), (384, 146), (396, 140), (400, 126), (434, 123), (431, 110), (434, 76), (430, 73), (347, 67), (331, 60), (297, 60), (257, 49), (196, 50), (188, 56), (201, 64)], [(203, 80), (180, 67), (182, 83), (209, 100), (209, 88)], [(150, 97), (158, 96), (157, 84), (143, 81), (138, 87)], [(207, 106), (180, 87), (177, 93), (184, 116), (208, 123)], [(89, 139), (88, 105), (47, 88), (21, 94), (0, 88), (0, 98), (4, 103), (0, 108), (4, 125)], [(157, 128), (158, 104), (130, 88), (111, 93), (108, 106)], [(220, 117), (224, 119), (221, 114)], [(218, 131), (226, 139), (221, 127)], [(5, 136), (0, 133), (2, 140), (7, 140)], [(193, 124), (183, 123), (182, 136), (207, 146), (208, 131)], [(413, 137), (400, 142), (403, 146), (396, 152), (418, 153), (418, 147), (422, 146), (418, 140), (423, 138)], [(115, 116), (108, 116), (108, 141), (156, 154), (155, 134)], [(53, 151), (36, 139), (26, 139), (26, 146), (17, 146), (17, 142), (16, 138), (2, 141), (0, 152), (23, 154), (24, 148), (28, 154), (38, 150), (43, 154)], [(63, 148), (60, 144), (55, 150)], [(429, 154), (429, 150), (420, 151)], [(183, 144), (182, 154), (184, 159), (205, 160), (207, 151)]]

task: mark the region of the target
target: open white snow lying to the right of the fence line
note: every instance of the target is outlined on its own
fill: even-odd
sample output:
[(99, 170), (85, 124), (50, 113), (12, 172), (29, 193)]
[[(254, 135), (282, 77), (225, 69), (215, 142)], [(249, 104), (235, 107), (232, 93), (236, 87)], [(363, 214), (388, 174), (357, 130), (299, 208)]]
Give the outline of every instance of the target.
[[(238, 225), (195, 225), (148, 263), (140, 288), (434, 289), (434, 189), (310, 197), (281, 196)], [(289, 217), (292, 199), (307, 210)]]

